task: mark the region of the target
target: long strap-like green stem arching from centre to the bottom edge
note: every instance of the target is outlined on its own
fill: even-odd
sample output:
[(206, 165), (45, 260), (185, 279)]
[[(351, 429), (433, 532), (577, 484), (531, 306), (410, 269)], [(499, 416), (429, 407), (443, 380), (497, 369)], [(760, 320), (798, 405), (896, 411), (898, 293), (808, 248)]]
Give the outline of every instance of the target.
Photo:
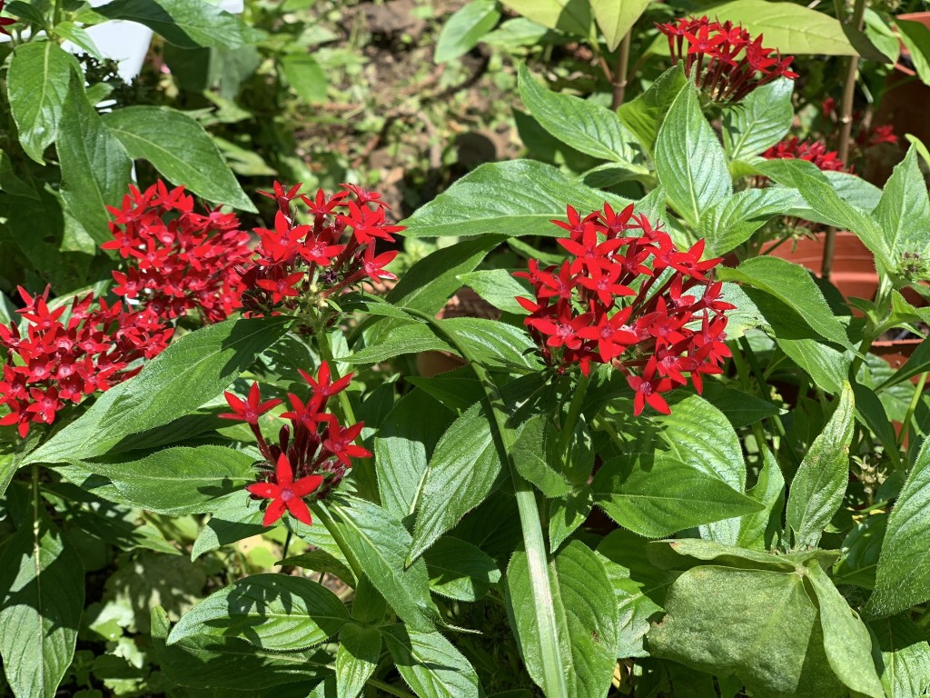
[(520, 514), (520, 528), (523, 530), (526, 565), (529, 570), (529, 583), (533, 593), (533, 611), (536, 616), (540, 651), (542, 654), (542, 691), (547, 698), (566, 698), (568, 686), (565, 680), (565, 666), (560, 651), (559, 631), (555, 622), (555, 599), (549, 580), (549, 557), (546, 540), (542, 532), (539, 506), (533, 487), (517, 472), (512, 453), (516, 436), (507, 426), (504, 401), (498, 392), (498, 386), (491, 380), (484, 366), (473, 360), (469, 352), (458, 342), (458, 338), (445, 330), (441, 320), (432, 315), (421, 313), (412, 308), (405, 308), (410, 315), (417, 315), (426, 320), (440, 339), (447, 342), (462, 358), (469, 362), (479, 383), (485, 389), (485, 406), (491, 416), (491, 425), (496, 431), (496, 442), (500, 460), (507, 463), (513, 480), (513, 494)]

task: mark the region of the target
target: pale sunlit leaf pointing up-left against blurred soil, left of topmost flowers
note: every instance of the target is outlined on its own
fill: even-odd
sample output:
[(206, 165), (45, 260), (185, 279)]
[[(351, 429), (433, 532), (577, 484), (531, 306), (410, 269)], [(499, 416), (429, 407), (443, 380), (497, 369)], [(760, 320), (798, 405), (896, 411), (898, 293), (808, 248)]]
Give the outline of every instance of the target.
[(539, 85), (525, 64), (520, 66), (520, 97), (539, 125), (559, 141), (600, 160), (631, 162), (634, 158), (632, 134), (617, 114)]

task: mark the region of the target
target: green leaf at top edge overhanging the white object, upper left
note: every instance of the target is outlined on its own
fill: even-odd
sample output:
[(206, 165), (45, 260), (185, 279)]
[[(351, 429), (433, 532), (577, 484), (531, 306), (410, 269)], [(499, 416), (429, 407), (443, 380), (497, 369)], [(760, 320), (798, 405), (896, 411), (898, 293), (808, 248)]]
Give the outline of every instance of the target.
[(179, 48), (240, 48), (262, 34), (205, 0), (114, 0), (96, 11), (111, 20), (138, 21)]

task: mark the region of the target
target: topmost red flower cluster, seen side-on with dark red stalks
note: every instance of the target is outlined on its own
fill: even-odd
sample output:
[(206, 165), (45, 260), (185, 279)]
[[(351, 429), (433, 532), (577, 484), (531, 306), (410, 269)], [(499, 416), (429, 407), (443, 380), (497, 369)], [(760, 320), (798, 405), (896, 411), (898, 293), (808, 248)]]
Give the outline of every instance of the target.
[(733, 22), (687, 17), (656, 26), (669, 38), (671, 60), (683, 60), (684, 73), (714, 101), (740, 101), (777, 77), (798, 76), (790, 71), (793, 57), (781, 58), (763, 47), (762, 34), (753, 39)]

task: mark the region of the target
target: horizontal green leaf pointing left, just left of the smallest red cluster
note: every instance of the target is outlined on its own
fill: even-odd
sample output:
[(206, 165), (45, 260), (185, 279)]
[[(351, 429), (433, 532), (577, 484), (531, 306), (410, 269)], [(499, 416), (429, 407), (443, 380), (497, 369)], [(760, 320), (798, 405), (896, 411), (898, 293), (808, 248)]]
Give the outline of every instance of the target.
[(222, 446), (155, 451), (138, 461), (81, 463), (109, 477), (123, 498), (158, 514), (179, 516), (212, 511), (218, 498), (255, 479), (255, 459)]

